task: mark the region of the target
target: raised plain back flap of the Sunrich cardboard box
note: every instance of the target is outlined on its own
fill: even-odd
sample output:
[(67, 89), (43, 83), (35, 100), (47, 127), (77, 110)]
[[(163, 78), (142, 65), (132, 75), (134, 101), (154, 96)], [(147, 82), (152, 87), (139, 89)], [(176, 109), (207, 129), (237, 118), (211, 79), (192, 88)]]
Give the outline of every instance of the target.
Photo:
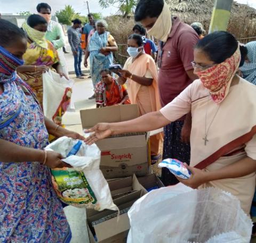
[(139, 116), (138, 105), (116, 105), (102, 108), (81, 110), (82, 127), (91, 128), (99, 122), (121, 122)]

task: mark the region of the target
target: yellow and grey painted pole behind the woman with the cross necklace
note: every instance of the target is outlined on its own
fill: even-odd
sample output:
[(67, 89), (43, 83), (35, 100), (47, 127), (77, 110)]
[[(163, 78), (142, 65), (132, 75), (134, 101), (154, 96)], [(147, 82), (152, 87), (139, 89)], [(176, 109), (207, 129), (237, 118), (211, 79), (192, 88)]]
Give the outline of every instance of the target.
[(227, 30), (232, 3), (233, 0), (215, 0), (209, 33)]

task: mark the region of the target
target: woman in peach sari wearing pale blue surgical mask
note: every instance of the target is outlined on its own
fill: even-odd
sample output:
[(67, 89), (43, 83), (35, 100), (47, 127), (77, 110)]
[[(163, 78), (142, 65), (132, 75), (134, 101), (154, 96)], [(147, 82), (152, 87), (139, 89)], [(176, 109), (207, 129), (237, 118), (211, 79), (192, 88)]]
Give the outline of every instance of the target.
[[(122, 77), (118, 82), (123, 85), (127, 81), (127, 88), (131, 104), (138, 104), (140, 115), (158, 111), (161, 108), (157, 88), (157, 68), (154, 59), (144, 52), (141, 35), (133, 34), (127, 41), (127, 53), (130, 58), (120, 71)], [(157, 163), (159, 143), (162, 135), (150, 137), (151, 164)]]

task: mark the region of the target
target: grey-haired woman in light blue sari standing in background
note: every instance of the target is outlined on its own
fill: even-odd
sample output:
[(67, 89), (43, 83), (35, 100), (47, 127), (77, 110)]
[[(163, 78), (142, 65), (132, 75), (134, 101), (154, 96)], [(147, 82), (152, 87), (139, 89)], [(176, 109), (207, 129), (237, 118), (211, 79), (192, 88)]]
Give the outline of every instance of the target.
[[(108, 25), (105, 20), (96, 22), (97, 31), (90, 39), (89, 48), (85, 53), (84, 65), (87, 67), (87, 58), (90, 55), (90, 67), (93, 87), (101, 80), (100, 71), (108, 69), (113, 63), (113, 52), (118, 50), (113, 36), (106, 31)], [(95, 98), (94, 95), (90, 98)]]

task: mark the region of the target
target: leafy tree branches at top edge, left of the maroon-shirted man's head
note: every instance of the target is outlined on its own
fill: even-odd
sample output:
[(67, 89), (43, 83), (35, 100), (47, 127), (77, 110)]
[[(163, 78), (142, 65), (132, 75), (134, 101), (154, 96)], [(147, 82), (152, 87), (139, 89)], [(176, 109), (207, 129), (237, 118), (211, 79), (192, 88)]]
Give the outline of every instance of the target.
[(109, 5), (117, 4), (119, 11), (122, 13), (124, 18), (134, 11), (137, 3), (138, 0), (99, 0), (99, 4), (103, 8), (109, 7)]

